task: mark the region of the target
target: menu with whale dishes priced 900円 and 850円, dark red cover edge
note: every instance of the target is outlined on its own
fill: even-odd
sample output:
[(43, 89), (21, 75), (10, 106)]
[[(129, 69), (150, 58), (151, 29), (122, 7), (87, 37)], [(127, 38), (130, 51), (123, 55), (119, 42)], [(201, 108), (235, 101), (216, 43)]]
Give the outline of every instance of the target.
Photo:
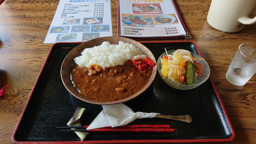
[(118, 36), (191, 38), (174, 0), (119, 0)]

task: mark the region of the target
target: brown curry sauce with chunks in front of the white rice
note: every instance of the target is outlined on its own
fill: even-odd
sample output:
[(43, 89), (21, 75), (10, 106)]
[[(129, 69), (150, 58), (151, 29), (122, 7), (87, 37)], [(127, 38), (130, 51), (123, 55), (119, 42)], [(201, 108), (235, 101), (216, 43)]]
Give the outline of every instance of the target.
[(149, 80), (152, 69), (136, 71), (125, 63), (116, 67), (100, 69), (92, 73), (86, 67), (75, 65), (70, 70), (74, 87), (86, 98), (97, 101), (115, 101), (131, 96), (141, 90)]

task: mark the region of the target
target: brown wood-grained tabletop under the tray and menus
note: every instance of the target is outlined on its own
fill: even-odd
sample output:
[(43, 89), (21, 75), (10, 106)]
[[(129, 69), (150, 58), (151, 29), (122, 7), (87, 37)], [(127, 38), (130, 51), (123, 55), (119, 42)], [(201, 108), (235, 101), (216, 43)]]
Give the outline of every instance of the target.
[[(239, 44), (256, 42), (256, 25), (247, 25), (237, 33), (218, 31), (206, 21), (210, 4), (210, 0), (177, 0), (191, 41), (210, 65), (211, 77), (236, 132), (235, 140), (223, 143), (255, 143), (256, 76), (244, 86), (235, 86), (225, 74)], [(7, 0), (0, 6), (0, 88), (10, 85), (6, 99), (0, 100), (0, 143), (12, 143), (12, 132), (52, 45), (43, 42), (57, 5), (54, 0)], [(116, 36), (116, 0), (112, 0), (112, 23)]]

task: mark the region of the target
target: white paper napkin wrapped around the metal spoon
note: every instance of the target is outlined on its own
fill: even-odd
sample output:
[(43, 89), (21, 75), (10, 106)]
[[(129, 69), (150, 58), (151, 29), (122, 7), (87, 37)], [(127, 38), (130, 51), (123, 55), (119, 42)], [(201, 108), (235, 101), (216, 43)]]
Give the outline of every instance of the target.
[(126, 105), (120, 103), (115, 105), (102, 105), (103, 110), (86, 128), (86, 130), (96, 129), (101, 127), (116, 127), (131, 123), (137, 118), (153, 118), (159, 113), (143, 113), (136, 112)]

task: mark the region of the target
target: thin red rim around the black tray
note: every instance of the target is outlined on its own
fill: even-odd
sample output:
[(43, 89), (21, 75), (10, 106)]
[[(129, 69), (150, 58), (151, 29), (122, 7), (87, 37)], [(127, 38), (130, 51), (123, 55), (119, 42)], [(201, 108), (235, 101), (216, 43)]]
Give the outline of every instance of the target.
[[(32, 94), (33, 94), (33, 92), (34, 92), (34, 89), (35, 89), (35, 87), (36, 87), (36, 84), (37, 84), (37, 82), (38, 82), (38, 80), (39, 80), (39, 77), (41, 76), (41, 74), (42, 74), (42, 71), (43, 71), (43, 69), (44, 69), (44, 66), (45, 66), (45, 64), (46, 64), (46, 62), (47, 62), (47, 60), (48, 60), (48, 58), (49, 58), (49, 56), (50, 56), (50, 54), (51, 54), (51, 52), (52, 52), (52, 49), (53, 49), (53, 47), (56, 45), (56, 44), (60, 44), (60, 43), (63, 43), (63, 42), (58, 42), (58, 43), (55, 43), (55, 44), (53, 44), (52, 45), (52, 47), (51, 47), (51, 49), (50, 49), (50, 51), (49, 51), (49, 53), (48, 53), (48, 55), (47, 55), (47, 57), (46, 57), (46, 59), (45, 59), (45, 61), (44, 61), (44, 64), (43, 64), (43, 66), (42, 66), (42, 68), (41, 68), (41, 70), (40, 70), (40, 73), (39, 73), (39, 75), (37, 76), (37, 78), (36, 78), (36, 82), (35, 82), (35, 84), (34, 84), (34, 86), (33, 86), (33, 88), (32, 88), (32, 90), (31, 90), (31, 93), (30, 93), (30, 95), (29, 95), (29, 97), (28, 97), (28, 101), (26, 102), (26, 104), (25, 104), (25, 107), (24, 107), (24, 109), (23, 109), (23, 111), (22, 111), (22, 113), (21, 113), (21, 115), (20, 115), (20, 119), (19, 119), (19, 121), (18, 121), (18, 123), (17, 123), (17, 125), (16, 125), (16, 127), (15, 127), (15, 129), (14, 129), (14, 132), (13, 132), (13, 134), (12, 134), (12, 142), (14, 142), (14, 143), (17, 143), (17, 144), (34, 144), (34, 143), (39, 143), (39, 144), (46, 144), (46, 143), (54, 143), (54, 144), (68, 144), (68, 143), (88, 143), (88, 144), (91, 144), (91, 143), (164, 143), (164, 142), (224, 142), (224, 141), (232, 141), (232, 140), (234, 140), (235, 139), (235, 136), (236, 136), (236, 134), (235, 134), (235, 131), (234, 131), (234, 128), (233, 128), (233, 126), (232, 126), (232, 124), (231, 124), (231, 122), (230, 122), (230, 119), (229, 119), (229, 117), (228, 117), (228, 114), (227, 114), (227, 111), (226, 111), (226, 109), (225, 109), (225, 107), (224, 107), (224, 105), (223, 105), (223, 103), (222, 103), (222, 100), (220, 99), (220, 95), (219, 95), (219, 93), (218, 93), (218, 91), (217, 91), (217, 89), (216, 89), (216, 87), (215, 87), (215, 84), (213, 83), (213, 81), (212, 81), (212, 78), (211, 77), (209, 77), (209, 79), (210, 79), (210, 81), (211, 81), (211, 83), (212, 83), (212, 86), (213, 86), (213, 88), (214, 88), (214, 91), (215, 91), (215, 93), (216, 93), (216, 95), (217, 95), (217, 97), (218, 97), (218, 100), (220, 101), (220, 105), (221, 105), (221, 108), (223, 109), (223, 111), (224, 111), (224, 114), (225, 114), (225, 116), (227, 117), (227, 120), (228, 120), (228, 124), (229, 124), (229, 126), (230, 126), (230, 128), (231, 128), (231, 131), (232, 131), (232, 136), (230, 137), (230, 138), (228, 138), (228, 139), (185, 139), (185, 140), (91, 140), (91, 141), (17, 141), (16, 139), (15, 139), (15, 135), (16, 135), (16, 132), (17, 132), (17, 129), (18, 129), (18, 127), (19, 127), (19, 125), (20, 125), (20, 121), (21, 121), (21, 119), (22, 119), (22, 117), (23, 117), (23, 115), (24, 115), (24, 113), (25, 113), (25, 111), (26, 111), (26, 109), (27, 109), (27, 106), (28, 106), (28, 103), (29, 103), (29, 100), (30, 100), (30, 98), (31, 98), (31, 96), (32, 96)], [(66, 43), (83, 43), (83, 42), (66, 42)], [(193, 43), (193, 44), (195, 44), (195, 46), (196, 46), (196, 50), (197, 50), (197, 52), (198, 52), (198, 54), (202, 57), (202, 55), (201, 55), (201, 53), (199, 52), (199, 49), (198, 49), (198, 47), (197, 47), (197, 45), (196, 45), (196, 43), (194, 43), (194, 42), (192, 42), (192, 41), (140, 41), (140, 43)]]

